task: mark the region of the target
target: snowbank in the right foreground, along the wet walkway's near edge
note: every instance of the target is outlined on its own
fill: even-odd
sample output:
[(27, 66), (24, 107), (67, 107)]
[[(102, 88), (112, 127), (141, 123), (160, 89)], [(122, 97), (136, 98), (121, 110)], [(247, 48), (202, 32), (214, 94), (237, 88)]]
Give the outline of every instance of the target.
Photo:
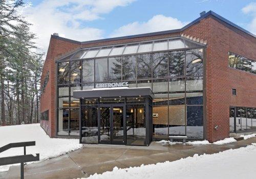
[[(256, 144), (230, 149), (215, 154), (195, 154), (193, 157), (174, 162), (164, 162), (124, 169), (113, 168), (102, 174), (95, 173), (90, 179), (121, 178), (177, 178), (177, 179), (215, 179), (215, 178), (255, 178)], [(241, 165), (243, 167), (241, 167)]]

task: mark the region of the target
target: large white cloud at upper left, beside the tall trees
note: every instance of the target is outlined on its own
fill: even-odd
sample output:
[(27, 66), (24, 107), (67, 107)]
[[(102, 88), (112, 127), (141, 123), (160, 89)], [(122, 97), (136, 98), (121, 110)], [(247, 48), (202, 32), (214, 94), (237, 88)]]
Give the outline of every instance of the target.
[(47, 52), (50, 35), (78, 41), (99, 39), (103, 30), (87, 27), (86, 21), (102, 19), (101, 15), (118, 6), (127, 6), (135, 0), (44, 0), (37, 6), (20, 9), (30, 23), (31, 31), (38, 37), (36, 43)]

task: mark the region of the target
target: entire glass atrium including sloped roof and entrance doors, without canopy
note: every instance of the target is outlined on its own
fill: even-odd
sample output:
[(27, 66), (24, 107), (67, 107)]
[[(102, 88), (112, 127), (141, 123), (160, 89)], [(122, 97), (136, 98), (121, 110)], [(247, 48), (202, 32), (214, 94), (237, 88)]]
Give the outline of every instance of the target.
[[(148, 131), (153, 140), (167, 140), (169, 135), (203, 139), (205, 48), (174, 37), (84, 48), (60, 58), (56, 61), (57, 135), (102, 143), (99, 136), (109, 140), (105, 134), (111, 131), (126, 145), (146, 145)], [(126, 88), (150, 87), (154, 96), (73, 97), (74, 91), (119, 82), (127, 82)], [(110, 118), (109, 126), (102, 127)]]

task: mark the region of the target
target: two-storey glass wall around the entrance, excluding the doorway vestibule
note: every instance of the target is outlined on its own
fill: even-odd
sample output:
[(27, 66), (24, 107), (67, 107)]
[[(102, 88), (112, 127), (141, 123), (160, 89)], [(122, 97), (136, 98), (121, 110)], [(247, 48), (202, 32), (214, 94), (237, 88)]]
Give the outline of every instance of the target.
[[(76, 132), (77, 99), (72, 98), (74, 90), (125, 81), (130, 88), (152, 88), (155, 94), (152, 111), (155, 138), (187, 135), (188, 138), (202, 139), (203, 49), (166, 51), (166, 45), (167, 41), (163, 40), (155, 42), (154, 48), (152, 43), (145, 43), (140, 48), (138, 44), (126, 45), (125, 48), (117, 46), (112, 49), (115, 49), (113, 53), (108, 53), (116, 55), (122, 51), (123, 55), (102, 58), (94, 54), (96, 57), (91, 59), (58, 62), (58, 135), (74, 135)], [(172, 49), (188, 46), (183, 46), (182, 40), (168, 43)], [(141, 54), (128, 55), (139, 50)], [(154, 50), (165, 52), (153, 53)], [(83, 53), (81, 58), (89, 58), (88, 53)]]

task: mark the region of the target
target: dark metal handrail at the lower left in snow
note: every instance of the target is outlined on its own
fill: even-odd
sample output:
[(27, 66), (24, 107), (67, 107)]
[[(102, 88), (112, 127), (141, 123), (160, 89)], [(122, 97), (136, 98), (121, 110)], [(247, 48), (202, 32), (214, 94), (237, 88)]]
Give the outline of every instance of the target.
[(0, 158), (0, 166), (20, 163), (20, 178), (24, 179), (24, 163), (39, 161), (39, 153), (36, 153), (36, 156), (32, 154), (26, 154), (26, 147), (28, 146), (35, 146), (35, 141), (10, 143), (3, 147), (0, 147), (0, 153), (10, 148), (24, 147), (24, 155), (7, 156)]

